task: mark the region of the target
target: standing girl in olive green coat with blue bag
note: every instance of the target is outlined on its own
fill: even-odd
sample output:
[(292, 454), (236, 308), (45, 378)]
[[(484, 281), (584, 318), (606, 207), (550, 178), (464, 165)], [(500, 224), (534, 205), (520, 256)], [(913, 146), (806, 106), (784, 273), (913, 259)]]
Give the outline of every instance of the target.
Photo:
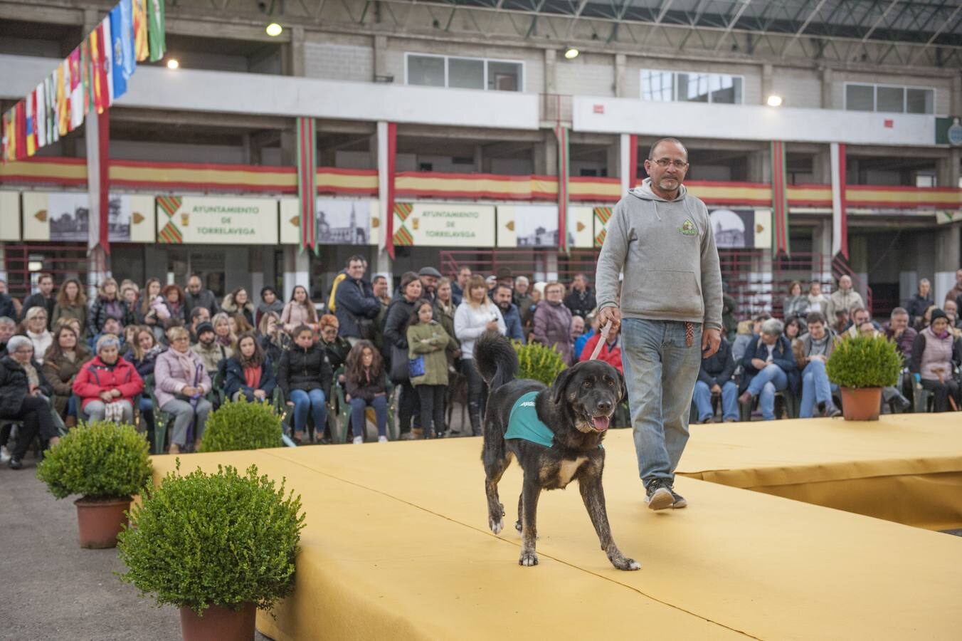
[[(420, 298), (408, 319), (408, 359), (411, 384), (418, 391), (421, 428), (424, 438), (444, 436), (444, 392), (447, 390), (447, 357), (444, 351), (450, 338), (440, 322), (434, 320), (434, 305)], [(422, 363), (418, 371), (415, 363)], [(434, 423), (432, 426), (432, 422)]]

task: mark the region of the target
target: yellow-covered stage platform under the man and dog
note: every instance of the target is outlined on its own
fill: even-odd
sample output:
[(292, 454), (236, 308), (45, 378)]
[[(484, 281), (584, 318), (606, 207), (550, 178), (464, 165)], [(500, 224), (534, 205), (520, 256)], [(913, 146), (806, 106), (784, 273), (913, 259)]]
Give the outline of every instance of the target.
[[(949, 434), (962, 425), (928, 419), (696, 426), (682, 468), (759, 489), (817, 483), (816, 470), (884, 473), (887, 461), (908, 460), (899, 474), (914, 474), (953, 452), (952, 470), (925, 465), (962, 471)], [(652, 513), (628, 430), (606, 442), (605, 491), (615, 539), (642, 570), (611, 567), (573, 486), (544, 493), (541, 564), (519, 567), (519, 535), (487, 528), (480, 448), (454, 439), (193, 454), (182, 469), (256, 463), (302, 495), (296, 593), (276, 619), (258, 617), (275, 639), (959, 638), (962, 539), (688, 477), (676, 489), (690, 507)], [(173, 464), (155, 457), (156, 474)], [(514, 465), (501, 482), (509, 519), (519, 489)]]

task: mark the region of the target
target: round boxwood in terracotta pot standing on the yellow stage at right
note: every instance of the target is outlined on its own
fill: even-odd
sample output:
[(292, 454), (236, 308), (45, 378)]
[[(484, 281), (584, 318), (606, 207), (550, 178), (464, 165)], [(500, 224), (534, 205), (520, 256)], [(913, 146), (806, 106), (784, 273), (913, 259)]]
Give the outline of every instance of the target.
[(825, 363), (828, 380), (842, 389), (846, 421), (877, 421), (882, 388), (899, 381), (902, 359), (895, 343), (861, 335), (839, 342)]

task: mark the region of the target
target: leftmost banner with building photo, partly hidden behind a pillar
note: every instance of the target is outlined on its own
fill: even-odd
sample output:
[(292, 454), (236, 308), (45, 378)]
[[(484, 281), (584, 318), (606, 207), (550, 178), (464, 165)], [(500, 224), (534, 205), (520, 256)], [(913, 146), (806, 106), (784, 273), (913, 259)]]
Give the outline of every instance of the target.
[[(112, 243), (152, 243), (152, 196), (112, 193), (107, 224)], [(83, 243), (89, 240), (87, 192), (24, 192), (23, 238)]]

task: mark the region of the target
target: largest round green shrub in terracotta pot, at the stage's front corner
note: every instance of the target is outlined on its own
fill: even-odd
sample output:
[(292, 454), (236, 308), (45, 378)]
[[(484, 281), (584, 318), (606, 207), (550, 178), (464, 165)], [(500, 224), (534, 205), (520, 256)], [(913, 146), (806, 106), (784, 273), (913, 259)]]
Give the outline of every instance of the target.
[(255, 609), (291, 594), (304, 515), (251, 466), (175, 472), (144, 488), (120, 533), (120, 579), (180, 608), (184, 639), (253, 639)]

